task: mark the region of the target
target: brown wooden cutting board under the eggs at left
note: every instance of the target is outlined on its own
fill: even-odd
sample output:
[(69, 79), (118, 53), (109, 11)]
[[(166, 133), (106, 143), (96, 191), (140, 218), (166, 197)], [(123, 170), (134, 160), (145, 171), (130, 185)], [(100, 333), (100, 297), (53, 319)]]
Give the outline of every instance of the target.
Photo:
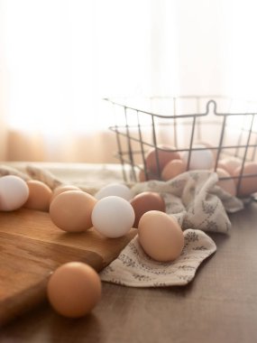
[(131, 229), (126, 236), (105, 238), (93, 227), (66, 233), (49, 213), (0, 212), (0, 326), (46, 299), (50, 273), (60, 264), (82, 261), (99, 272), (135, 235)]

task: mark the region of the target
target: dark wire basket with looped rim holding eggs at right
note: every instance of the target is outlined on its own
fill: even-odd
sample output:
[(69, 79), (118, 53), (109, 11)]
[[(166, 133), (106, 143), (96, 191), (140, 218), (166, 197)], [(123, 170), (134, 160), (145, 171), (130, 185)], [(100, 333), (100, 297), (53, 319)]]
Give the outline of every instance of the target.
[[(169, 151), (187, 155), (186, 170), (196, 151), (211, 151), (213, 171), (220, 163), (234, 158), (240, 165), (237, 173), (219, 176), (234, 180), (236, 194), (243, 193), (244, 180), (251, 180), (257, 191), (257, 104), (231, 97), (148, 97), (106, 98), (112, 108), (117, 152), (123, 167), (124, 181), (162, 180), (160, 153)], [(154, 151), (156, 171), (152, 175), (147, 158)], [(256, 162), (251, 172), (246, 166)], [(253, 172), (252, 172), (253, 171)], [(254, 186), (255, 185), (255, 186)]]

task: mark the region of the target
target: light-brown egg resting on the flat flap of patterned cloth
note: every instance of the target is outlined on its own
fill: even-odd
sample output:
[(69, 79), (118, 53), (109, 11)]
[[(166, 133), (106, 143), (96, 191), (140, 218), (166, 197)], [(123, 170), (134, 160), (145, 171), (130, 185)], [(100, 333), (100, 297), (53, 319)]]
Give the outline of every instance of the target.
[(174, 261), (184, 247), (184, 235), (176, 218), (156, 210), (142, 215), (138, 238), (145, 253), (160, 262)]

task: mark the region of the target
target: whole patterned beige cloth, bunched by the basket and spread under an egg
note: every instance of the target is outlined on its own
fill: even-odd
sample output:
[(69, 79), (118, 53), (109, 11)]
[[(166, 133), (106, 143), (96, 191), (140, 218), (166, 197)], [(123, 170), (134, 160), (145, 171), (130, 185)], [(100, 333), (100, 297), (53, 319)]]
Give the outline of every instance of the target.
[(243, 202), (220, 187), (215, 172), (185, 172), (170, 181), (138, 183), (133, 192), (159, 192), (166, 212), (178, 219), (185, 246), (173, 262), (157, 262), (146, 255), (138, 236), (101, 273), (102, 281), (131, 287), (182, 286), (190, 283), (197, 267), (216, 252), (216, 244), (204, 231), (226, 234), (231, 227), (226, 212), (243, 209)]

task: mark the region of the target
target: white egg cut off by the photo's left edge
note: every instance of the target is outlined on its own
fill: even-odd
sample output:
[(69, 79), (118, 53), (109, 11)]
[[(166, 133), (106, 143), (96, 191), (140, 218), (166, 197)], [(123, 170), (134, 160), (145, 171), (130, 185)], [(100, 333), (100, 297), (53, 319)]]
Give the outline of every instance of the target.
[(29, 187), (23, 179), (14, 175), (0, 178), (0, 210), (20, 209), (29, 198)]

